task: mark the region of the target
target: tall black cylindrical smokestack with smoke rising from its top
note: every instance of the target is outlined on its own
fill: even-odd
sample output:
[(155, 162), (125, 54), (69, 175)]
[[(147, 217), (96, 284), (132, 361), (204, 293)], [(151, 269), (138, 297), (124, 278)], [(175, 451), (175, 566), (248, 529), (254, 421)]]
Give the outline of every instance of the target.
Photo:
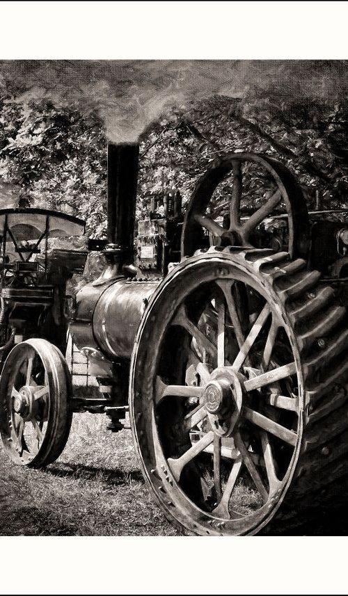
[(108, 226), (109, 245), (118, 267), (133, 262), (133, 238), (138, 181), (139, 145), (108, 145)]

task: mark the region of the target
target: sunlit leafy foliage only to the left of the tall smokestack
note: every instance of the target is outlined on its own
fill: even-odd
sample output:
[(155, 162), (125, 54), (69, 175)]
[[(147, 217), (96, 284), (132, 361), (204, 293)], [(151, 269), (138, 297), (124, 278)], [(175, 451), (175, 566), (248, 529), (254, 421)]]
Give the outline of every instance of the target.
[(106, 140), (96, 113), (74, 106), (0, 104), (0, 179), (35, 207), (70, 211), (100, 236), (106, 218)]

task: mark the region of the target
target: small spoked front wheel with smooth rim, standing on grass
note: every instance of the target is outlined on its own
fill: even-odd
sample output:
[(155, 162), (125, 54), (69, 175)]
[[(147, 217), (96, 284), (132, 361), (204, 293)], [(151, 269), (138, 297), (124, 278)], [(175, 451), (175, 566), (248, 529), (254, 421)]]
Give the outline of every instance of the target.
[(68, 366), (45, 339), (27, 339), (10, 351), (0, 380), (0, 430), (18, 465), (43, 467), (61, 455), (72, 423)]

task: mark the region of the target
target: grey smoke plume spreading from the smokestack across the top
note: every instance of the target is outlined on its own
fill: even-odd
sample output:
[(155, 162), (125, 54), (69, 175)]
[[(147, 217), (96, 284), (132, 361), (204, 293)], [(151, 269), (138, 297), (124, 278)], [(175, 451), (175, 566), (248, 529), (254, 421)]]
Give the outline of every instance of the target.
[(212, 95), (345, 98), (348, 61), (1, 61), (0, 93), (96, 109), (109, 140), (131, 143), (171, 108)]

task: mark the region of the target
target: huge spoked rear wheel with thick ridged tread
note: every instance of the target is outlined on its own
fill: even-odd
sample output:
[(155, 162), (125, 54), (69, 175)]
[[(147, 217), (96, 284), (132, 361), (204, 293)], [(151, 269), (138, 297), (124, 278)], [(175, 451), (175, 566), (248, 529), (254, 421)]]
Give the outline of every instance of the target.
[(347, 482), (347, 311), (286, 252), (210, 248), (141, 321), (129, 403), (143, 474), (184, 533), (276, 534)]

